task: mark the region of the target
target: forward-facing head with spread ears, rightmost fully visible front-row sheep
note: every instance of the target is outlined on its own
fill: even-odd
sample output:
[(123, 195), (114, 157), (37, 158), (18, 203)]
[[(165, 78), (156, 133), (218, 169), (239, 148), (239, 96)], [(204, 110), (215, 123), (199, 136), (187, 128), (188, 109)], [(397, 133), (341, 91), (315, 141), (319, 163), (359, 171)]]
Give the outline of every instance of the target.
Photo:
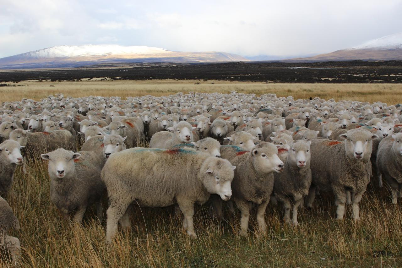
[(378, 138), (367, 130), (353, 129), (340, 135), (345, 139), (346, 155), (356, 160), (369, 159), (373, 149), (372, 140)]

